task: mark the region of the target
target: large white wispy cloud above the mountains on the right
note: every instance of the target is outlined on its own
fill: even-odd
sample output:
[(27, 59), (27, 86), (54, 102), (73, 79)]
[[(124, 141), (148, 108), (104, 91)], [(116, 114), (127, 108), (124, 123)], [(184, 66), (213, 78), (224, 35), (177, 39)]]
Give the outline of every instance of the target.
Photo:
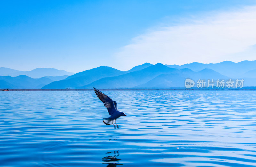
[[(157, 27), (114, 55), (118, 69), (145, 62), (182, 65), (255, 60), (256, 6), (215, 13), (176, 26)], [(254, 46), (253, 46), (254, 45)]]

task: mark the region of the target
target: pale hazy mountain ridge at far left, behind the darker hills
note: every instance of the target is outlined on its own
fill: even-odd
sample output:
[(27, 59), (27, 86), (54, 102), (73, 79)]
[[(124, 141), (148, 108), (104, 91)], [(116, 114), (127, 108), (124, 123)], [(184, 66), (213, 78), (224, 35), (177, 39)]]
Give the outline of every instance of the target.
[(10, 68), (0, 68), (0, 75), (1, 76), (11, 76), (16, 77), (19, 75), (26, 75), (31, 78), (41, 78), (44, 76), (63, 76), (63, 75), (73, 75), (72, 72), (67, 72), (64, 70), (57, 70), (55, 68), (36, 68), (31, 71), (19, 71), (19, 70), (13, 70)]

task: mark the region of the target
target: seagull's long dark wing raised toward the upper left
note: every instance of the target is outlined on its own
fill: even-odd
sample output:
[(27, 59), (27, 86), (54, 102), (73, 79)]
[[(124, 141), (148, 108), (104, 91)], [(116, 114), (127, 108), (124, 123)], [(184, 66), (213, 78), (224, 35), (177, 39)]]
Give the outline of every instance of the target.
[(98, 98), (104, 103), (104, 106), (108, 109), (109, 115), (112, 115), (116, 111), (113, 100), (95, 87), (93, 88)]

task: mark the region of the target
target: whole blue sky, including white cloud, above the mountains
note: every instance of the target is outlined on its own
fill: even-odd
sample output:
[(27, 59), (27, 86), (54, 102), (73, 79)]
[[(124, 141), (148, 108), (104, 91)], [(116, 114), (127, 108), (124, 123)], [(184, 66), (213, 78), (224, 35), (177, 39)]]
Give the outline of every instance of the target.
[(255, 60), (255, 6), (252, 0), (1, 1), (0, 67), (80, 72)]

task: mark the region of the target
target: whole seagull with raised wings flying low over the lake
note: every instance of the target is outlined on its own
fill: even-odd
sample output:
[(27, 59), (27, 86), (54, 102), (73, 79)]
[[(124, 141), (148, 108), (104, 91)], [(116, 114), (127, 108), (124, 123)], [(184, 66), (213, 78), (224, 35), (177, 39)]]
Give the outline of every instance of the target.
[[(108, 118), (103, 118), (103, 122), (106, 125), (111, 125), (111, 124), (116, 124), (116, 119), (119, 118), (120, 116), (127, 116), (125, 115), (124, 112), (120, 112), (117, 110), (117, 102), (113, 101), (110, 97), (108, 97), (107, 95), (105, 95), (104, 93), (100, 92), (98, 89), (96, 89), (95, 87), (94, 91), (96, 93), (96, 95), (98, 96), (98, 98), (104, 103), (104, 106), (108, 109), (108, 113), (110, 115), (110, 117)], [(117, 128), (118, 125), (116, 124)], [(116, 129), (116, 126), (114, 125), (114, 128)]]

